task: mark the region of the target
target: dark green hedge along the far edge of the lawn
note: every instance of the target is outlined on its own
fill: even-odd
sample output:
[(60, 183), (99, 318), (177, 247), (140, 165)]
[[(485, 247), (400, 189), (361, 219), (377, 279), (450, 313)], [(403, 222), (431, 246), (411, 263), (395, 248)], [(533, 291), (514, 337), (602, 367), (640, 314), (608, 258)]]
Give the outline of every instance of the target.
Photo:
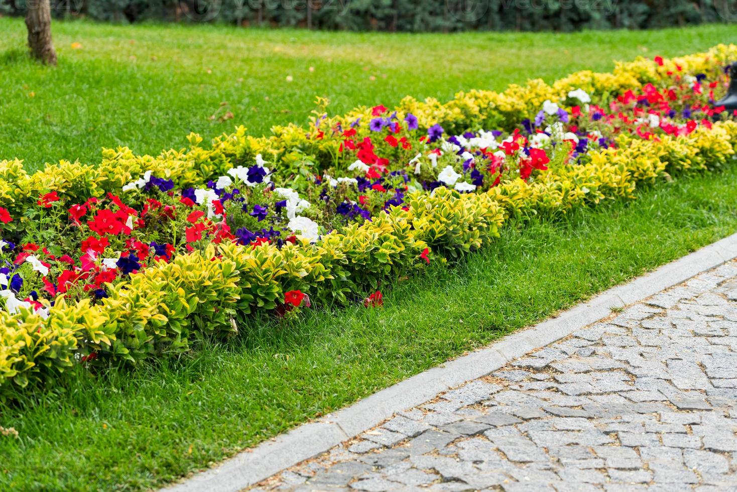
[[(23, 15), (27, 0), (0, 0)], [(51, 0), (99, 21), (209, 21), (380, 31), (648, 29), (737, 21), (737, 0)]]

